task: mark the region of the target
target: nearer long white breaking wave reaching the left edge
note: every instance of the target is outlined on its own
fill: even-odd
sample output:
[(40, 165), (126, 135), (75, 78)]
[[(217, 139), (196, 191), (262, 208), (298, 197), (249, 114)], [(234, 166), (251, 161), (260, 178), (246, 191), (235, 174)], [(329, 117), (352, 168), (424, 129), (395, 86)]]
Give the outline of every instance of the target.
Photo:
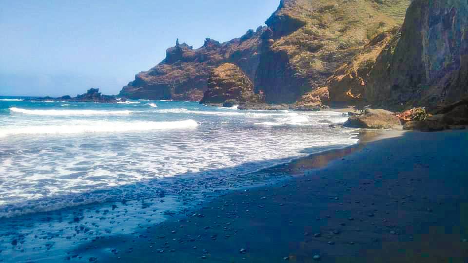
[(63, 125), (34, 125), (0, 128), (0, 137), (24, 134), (74, 134), (86, 132), (129, 132), (195, 128), (194, 120), (183, 121), (74, 121)]

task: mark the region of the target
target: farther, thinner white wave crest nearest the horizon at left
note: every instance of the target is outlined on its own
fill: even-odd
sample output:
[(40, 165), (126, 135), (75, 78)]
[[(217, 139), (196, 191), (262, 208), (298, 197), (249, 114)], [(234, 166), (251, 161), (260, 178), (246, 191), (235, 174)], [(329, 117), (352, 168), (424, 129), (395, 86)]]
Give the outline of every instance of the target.
[(132, 111), (96, 111), (96, 110), (26, 110), (10, 108), (12, 113), (47, 116), (90, 116), (90, 115), (129, 115)]

